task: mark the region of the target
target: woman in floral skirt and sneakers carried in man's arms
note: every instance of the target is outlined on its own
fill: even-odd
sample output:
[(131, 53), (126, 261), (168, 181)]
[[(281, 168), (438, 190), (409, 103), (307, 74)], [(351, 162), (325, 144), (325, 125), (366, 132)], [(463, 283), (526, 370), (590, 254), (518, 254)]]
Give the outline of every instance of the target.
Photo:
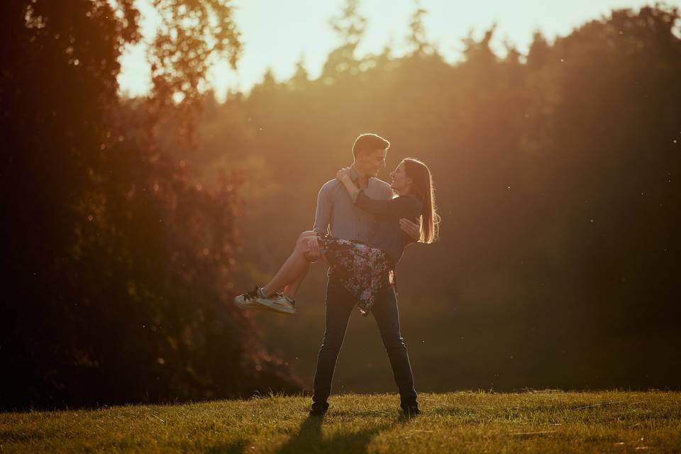
[[(343, 183), (350, 198), (379, 221), (367, 243), (319, 236), (321, 259), (342, 274), (343, 285), (358, 299), (358, 309), (363, 315), (369, 314), (382, 286), (393, 282), (391, 277), (394, 277), (395, 266), (405, 246), (411, 242), (399, 228), (399, 219), (421, 217), (420, 240), (423, 243), (433, 243), (438, 237), (439, 216), (428, 167), (419, 160), (406, 158), (390, 177), (391, 187), (397, 196), (390, 200), (377, 200), (355, 186), (350, 177), (350, 167), (339, 170), (336, 178)], [(256, 286), (252, 292), (240, 294), (234, 302), (242, 309), (269, 308), (294, 314), (295, 299), (279, 294), (277, 290), (291, 284), (295, 284), (294, 290), (297, 290), (308, 263), (315, 259), (307, 255), (305, 243), (310, 236), (317, 236), (317, 233), (301, 233), (295, 250), (265, 287)]]

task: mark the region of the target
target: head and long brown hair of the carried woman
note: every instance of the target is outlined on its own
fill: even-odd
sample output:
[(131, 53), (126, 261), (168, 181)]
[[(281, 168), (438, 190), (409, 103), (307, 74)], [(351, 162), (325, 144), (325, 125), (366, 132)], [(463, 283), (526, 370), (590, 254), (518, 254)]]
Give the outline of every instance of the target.
[(435, 204), (435, 189), (433, 189), (431, 170), (414, 157), (407, 157), (399, 163), (397, 169), (390, 176), (393, 180), (394, 190), (399, 194), (414, 194), (423, 204), (421, 241), (433, 243), (438, 239), (440, 216), (438, 216)]

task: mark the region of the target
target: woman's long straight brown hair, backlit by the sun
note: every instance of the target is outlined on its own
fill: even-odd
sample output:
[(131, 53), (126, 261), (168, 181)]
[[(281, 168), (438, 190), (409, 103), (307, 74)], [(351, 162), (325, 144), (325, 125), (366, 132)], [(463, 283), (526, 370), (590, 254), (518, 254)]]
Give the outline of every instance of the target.
[(431, 170), (414, 157), (404, 159), (404, 172), (411, 178), (411, 193), (423, 204), (421, 217), (421, 242), (433, 243), (439, 236), (440, 216), (435, 204), (435, 189)]

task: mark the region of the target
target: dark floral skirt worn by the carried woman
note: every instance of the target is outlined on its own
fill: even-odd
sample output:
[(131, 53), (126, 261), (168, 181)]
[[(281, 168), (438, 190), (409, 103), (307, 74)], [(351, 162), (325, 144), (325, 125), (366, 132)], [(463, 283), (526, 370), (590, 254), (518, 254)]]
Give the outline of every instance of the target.
[(341, 282), (358, 301), (363, 316), (369, 315), (378, 293), (386, 283), (394, 284), (394, 263), (381, 249), (357, 241), (319, 235), (321, 252), (341, 276)]

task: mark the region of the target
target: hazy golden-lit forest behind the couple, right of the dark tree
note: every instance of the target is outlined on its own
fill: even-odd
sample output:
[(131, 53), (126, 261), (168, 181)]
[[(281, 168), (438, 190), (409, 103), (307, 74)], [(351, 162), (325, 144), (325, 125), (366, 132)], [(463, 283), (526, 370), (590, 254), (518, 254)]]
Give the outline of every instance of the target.
[[(490, 28), (464, 39), (455, 64), (414, 45), (400, 58), (345, 52), (353, 61), (338, 67), (338, 52), (358, 43), (346, 40), (319, 79), (270, 79), (211, 109), (204, 153), (168, 151), (206, 184), (218, 163), (257, 169), (243, 191), (241, 260), (265, 275), (311, 227), (316, 192), (351, 162), (359, 133), (391, 141), (388, 167), (410, 155), (430, 165), (442, 240), (408, 248), (399, 270), (421, 389), (677, 387), (679, 26), (671, 7), (613, 11), (504, 57)], [(323, 272), (309, 279), (304, 321), (259, 320), (285, 358), (304, 358), (305, 374), (316, 354), (309, 329), (323, 330)], [(352, 360), (337, 382), (389, 389), (366, 326), (348, 336), (341, 363)]]

